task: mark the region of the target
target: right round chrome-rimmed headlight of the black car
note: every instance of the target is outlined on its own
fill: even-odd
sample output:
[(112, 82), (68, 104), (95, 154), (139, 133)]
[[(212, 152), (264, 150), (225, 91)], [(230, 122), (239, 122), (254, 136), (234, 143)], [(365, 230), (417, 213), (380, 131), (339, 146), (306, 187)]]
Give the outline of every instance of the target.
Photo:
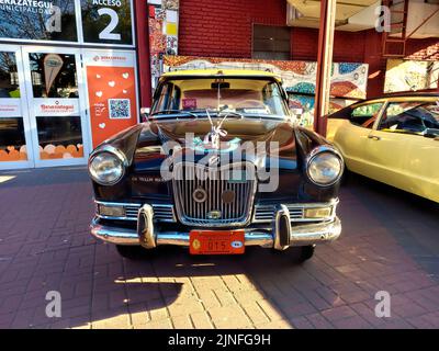
[(330, 151), (318, 152), (313, 156), (307, 165), (309, 179), (317, 185), (333, 185), (342, 173), (344, 161)]

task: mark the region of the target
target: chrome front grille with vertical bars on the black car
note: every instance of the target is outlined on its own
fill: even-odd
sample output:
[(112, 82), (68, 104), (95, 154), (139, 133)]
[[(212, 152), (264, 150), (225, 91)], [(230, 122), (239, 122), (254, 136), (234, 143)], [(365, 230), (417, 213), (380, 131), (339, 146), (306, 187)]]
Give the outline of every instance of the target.
[[(222, 168), (187, 162), (173, 169), (176, 210), (184, 225), (244, 225), (250, 219), (255, 190), (255, 166), (250, 162)], [(198, 192), (205, 199), (196, 199)]]

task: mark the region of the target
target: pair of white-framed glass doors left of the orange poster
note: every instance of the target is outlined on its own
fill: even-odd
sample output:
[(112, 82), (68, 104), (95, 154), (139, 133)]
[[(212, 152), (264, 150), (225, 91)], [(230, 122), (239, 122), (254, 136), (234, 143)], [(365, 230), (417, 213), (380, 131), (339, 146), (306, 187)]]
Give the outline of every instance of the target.
[(2, 45), (0, 169), (71, 166), (90, 150), (80, 50)]

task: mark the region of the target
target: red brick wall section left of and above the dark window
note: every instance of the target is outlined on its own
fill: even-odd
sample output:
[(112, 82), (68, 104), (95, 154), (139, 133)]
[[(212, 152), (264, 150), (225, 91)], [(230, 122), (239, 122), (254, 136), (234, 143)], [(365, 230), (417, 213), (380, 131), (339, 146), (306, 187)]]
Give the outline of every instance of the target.
[(180, 0), (179, 54), (251, 57), (252, 23), (285, 25), (285, 0)]

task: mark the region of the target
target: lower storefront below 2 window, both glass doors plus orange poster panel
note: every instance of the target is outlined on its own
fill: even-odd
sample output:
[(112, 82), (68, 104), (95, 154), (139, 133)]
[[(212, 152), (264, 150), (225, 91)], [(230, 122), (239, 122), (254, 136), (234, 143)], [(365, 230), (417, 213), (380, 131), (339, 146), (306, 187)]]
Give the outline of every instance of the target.
[(0, 170), (87, 165), (92, 147), (135, 125), (135, 53), (0, 47)]

